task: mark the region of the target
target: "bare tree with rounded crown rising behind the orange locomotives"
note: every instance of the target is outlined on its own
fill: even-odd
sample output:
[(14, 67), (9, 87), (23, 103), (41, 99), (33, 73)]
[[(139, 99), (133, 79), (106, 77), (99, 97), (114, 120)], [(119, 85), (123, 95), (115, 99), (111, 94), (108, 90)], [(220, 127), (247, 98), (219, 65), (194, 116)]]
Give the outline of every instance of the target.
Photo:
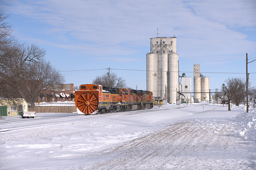
[(97, 76), (93, 79), (93, 84), (99, 84), (103, 87), (110, 88), (124, 88), (126, 87), (126, 80), (123, 77), (118, 77), (116, 73), (102, 74), (102, 76)]

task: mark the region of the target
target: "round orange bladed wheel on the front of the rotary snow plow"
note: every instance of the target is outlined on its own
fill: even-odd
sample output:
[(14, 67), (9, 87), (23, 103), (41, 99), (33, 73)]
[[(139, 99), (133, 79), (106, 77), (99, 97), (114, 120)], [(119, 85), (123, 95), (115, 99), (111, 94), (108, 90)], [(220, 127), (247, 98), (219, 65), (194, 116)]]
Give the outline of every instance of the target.
[(84, 93), (77, 99), (77, 108), (85, 114), (91, 114), (97, 110), (99, 100), (92, 93)]

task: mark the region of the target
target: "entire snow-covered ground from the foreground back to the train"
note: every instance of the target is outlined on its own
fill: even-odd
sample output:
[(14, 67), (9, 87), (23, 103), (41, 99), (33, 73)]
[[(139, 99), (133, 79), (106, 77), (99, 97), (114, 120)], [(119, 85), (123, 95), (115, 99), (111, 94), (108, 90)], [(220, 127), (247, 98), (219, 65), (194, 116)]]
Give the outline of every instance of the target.
[(256, 169), (256, 109), (201, 103), (146, 111), (6, 117), (0, 130), (23, 128), (0, 133), (0, 169)]

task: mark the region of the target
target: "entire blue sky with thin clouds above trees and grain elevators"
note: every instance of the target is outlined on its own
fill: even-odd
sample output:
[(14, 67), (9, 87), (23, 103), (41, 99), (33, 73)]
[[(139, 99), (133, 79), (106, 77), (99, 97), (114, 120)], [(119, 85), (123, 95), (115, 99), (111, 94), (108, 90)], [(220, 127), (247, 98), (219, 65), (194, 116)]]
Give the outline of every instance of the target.
[[(74, 86), (110, 67), (128, 87), (146, 90), (146, 53), (157, 28), (159, 37), (177, 37), (180, 75), (193, 77), (200, 64), (214, 91), (229, 77), (245, 78), (246, 53), (256, 59), (255, 0), (1, 0), (0, 8), (13, 35), (46, 49), (46, 60)], [(248, 72), (254, 87), (256, 61)]]

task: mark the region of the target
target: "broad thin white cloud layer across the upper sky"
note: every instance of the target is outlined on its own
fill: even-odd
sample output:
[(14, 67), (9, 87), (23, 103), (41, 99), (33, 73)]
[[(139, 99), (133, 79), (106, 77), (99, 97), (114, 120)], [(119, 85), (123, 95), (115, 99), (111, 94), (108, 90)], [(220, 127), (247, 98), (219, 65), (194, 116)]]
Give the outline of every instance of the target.
[(255, 29), (253, 0), (13, 0), (4, 4), (11, 13), (45, 23), (38, 32), (55, 37), (53, 46), (76, 53), (134, 54), (135, 47), (148, 46), (149, 38), (157, 36), (157, 27), (159, 36), (177, 36), (178, 53), (184, 57), (218, 53), (222, 59), (256, 48), (246, 34), (231, 29)]

